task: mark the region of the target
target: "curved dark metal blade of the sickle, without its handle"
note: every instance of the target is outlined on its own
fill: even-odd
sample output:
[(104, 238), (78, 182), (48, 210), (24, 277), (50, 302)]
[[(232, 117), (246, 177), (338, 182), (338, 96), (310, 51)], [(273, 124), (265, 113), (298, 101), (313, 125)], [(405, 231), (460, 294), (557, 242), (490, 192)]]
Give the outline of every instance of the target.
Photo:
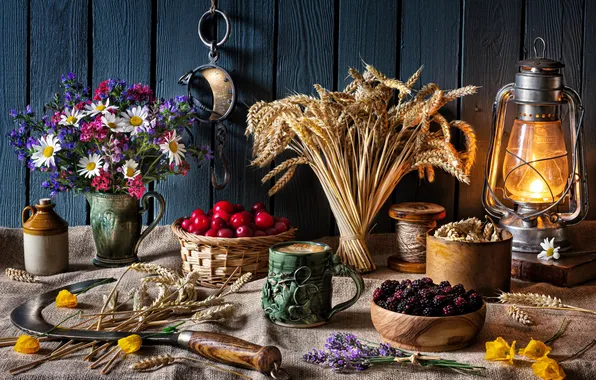
[[(100, 278), (96, 280), (88, 280), (40, 294), (35, 298), (15, 308), (10, 314), (10, 321), (19, 329), (32, 335), (44, 334), (53, 329), (50, 333), (47, 334), (48, 337), (52, 338), (100, 341), (109, 341), (124, 338), (130, 335), (131, 333), (126, 331), (115, 332), (101, 330), (72, 330), (65, 329), (62, 327), (57, 327), (54, 329), (55, 326), (47, 323), (41, 315), (42, 310), (49, 304), (53, 303), (56, 300), (56, 296), (58, 295), (58, 293), (63, 289), (66, 289), (69, 292), (76, 294), (80, 293), (83, 290), (88, 290), (99, 285), (109, 284), (114, 281), (116, 281), (115, 278)], [(137, 334), (143, 337), (144, 335), (150, 335), (152, 333)], [(176, 342), (177, 338), (178, 334), (169, 334), (167, 336), (153, 336), (150, 338), (146, 338), (146, 342), (153, 344), (171, 344), (172, 342)]]

